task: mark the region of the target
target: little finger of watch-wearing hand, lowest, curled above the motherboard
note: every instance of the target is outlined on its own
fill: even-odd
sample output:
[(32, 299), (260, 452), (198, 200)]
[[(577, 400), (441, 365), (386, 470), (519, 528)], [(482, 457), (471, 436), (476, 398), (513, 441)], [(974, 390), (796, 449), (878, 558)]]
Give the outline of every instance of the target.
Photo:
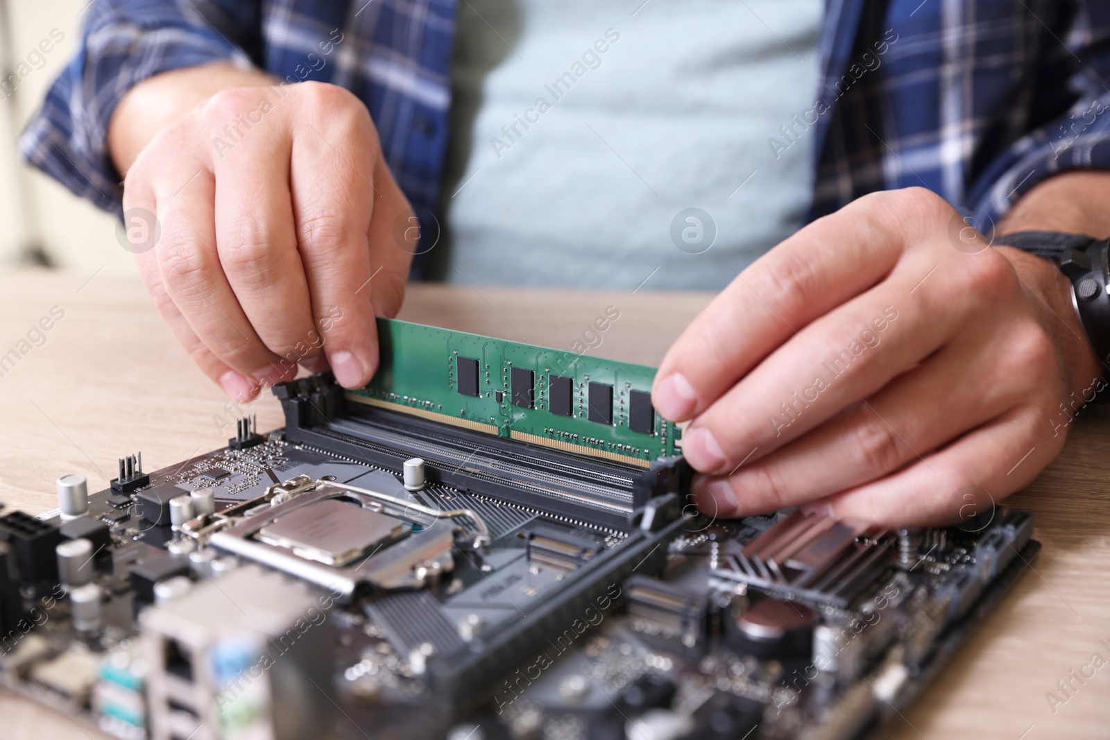
[(1064, 435), (1046, 434), (1043, 419), (1043, 409), (1012, 409), (896, 475), (826, 499), (820, 509), (888, 526), (958, 521), (961, 491), (982, 489), (1001, 503), (1052, 462)]

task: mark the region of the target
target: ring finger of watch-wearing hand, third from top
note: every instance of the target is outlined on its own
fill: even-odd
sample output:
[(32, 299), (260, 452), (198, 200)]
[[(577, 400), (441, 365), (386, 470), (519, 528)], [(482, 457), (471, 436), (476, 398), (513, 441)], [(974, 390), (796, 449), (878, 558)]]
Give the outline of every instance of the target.
[(729, 476), (699, 477), (695, 498), (727, 516), (748, 516), (846, 490), (920, 459), (1020, 403), (1021, 389), (996, 382), (998, 356), (978, 334), (965, 337), (768, 457)]

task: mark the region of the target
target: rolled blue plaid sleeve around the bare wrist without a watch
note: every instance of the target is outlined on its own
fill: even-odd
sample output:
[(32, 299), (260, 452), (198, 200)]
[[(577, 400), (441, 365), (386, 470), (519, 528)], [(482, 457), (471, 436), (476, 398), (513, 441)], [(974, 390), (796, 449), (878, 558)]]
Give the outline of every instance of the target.
[(94, 0), (77, 55), (20, 136), (23, 158), (74, 194), (121, 214), (123, 186), (108, 152), (120, 99), (168, 70), (216, 61), (250, 65), (245, 49), (258, 48), (258, 27), (259, 3), (250, 0)]

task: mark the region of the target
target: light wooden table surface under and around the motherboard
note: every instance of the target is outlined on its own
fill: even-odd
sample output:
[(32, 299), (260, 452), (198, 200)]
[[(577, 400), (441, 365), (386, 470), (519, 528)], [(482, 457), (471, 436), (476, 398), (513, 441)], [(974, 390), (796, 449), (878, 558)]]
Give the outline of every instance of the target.
[[(0, 291), (0, 500), (53, 508), (54, 479), (108, 485), (115, 459), (142, 450), (147, 469), (226, 444), (236, 409), (195, 369), (138, 281), (8, 272)], [(592, 354), (657, 364), (708, 294), (414, 286), (402, 318), (569, 348), (607, 306), (620, 317)], [(48, 332), (43, 316), (64, 312)], [(50, 324), (50, 322), (47, 322)], [(30, 334), (29, 334), (30, 333)], [(26, 342), (26, 344), (23, 344)], [(276, 401), (252, 405), (262, 429), (282, 425)], [(1040, 558), (970, 645), (905, 714), (891, 737), (1110, 738), (1110, 663), (1069, 680), (1100, 653), (1110, 661), (1110, 412), (1076, 423), (1061, 457), (1009, 499), (1037, 515)], [(1106, 642), (1100, 642), (1106, 640)], [(1067, 698), (1049, 704), (1050, 691)], [(63, 713), (0, 691), (0, 738), (92, 737)], [(101, 740), (97, 737), (97, 740)]]

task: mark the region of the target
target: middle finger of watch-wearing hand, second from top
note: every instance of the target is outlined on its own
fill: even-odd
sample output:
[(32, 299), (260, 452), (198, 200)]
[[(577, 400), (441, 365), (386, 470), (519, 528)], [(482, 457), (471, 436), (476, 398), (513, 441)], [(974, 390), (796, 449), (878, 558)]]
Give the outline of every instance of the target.
[[(922, 276), (937, 272), (925, 290)], [(879, 286), (815, 321), (694, 419), (683, 452), (695, 469), (727, 473), (759, 459), (878, 391), (969, 333), (969, 316), (997, 316), (1019, 283), (995, 252), (908, 255)], [(755, 452), (753, 452), (755, 450)]]

